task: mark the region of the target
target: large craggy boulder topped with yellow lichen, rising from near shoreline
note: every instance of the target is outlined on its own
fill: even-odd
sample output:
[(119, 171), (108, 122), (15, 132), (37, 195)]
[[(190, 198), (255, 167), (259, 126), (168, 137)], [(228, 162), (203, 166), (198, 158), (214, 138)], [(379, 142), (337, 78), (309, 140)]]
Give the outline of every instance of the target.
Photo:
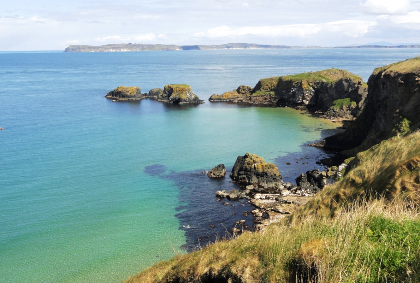
[(276, 165), (265, 163), (264, 158), (251, 153), (236, 158), (230, 177), (243, 185), (273, 190), (283, 188), (283, 179)]

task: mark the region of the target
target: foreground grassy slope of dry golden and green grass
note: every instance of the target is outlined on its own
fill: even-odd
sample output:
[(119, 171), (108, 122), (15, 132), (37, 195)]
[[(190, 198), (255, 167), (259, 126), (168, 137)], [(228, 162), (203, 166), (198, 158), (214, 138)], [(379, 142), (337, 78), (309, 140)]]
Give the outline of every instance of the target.
[(126, 282), (420, 282), (420, 132), (383, 141), (349, 166), (283, 223)]

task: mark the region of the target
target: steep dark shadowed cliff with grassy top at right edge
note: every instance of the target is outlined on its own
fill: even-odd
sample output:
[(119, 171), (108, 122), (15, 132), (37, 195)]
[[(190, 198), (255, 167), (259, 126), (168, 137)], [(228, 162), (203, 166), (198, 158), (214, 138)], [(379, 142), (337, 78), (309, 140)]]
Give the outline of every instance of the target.
[(396, 135), (420, 127), (420, 57), (376, 68), (368, 80), (365, 106), (343, 133), (320, 143), (354, 156)]

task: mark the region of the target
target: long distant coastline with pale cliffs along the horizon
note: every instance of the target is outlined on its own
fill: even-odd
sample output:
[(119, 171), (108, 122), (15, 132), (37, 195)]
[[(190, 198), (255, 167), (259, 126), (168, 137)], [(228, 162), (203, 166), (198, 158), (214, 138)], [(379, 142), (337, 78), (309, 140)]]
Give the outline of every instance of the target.
[(287, 46), (287, 45), (266, 45), (255, 43), (227, 43), (220, 45), (175, 45), (175, 44), (105, 44), (94, 45), (70, 45), (64, 52), (125, 52), (125, 51), (172, 51), (172, 50), (209, 50), (209, 49), (292, 49), (292, 48), (420, 48), (420, 44), (414, 45), (360, 45), (360, 46)]

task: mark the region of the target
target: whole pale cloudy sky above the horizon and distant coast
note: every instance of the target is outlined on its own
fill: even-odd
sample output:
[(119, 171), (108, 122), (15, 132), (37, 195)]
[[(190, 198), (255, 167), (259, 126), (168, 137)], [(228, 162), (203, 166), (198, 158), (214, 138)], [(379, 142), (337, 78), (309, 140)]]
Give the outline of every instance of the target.
[(420, 42), (420, 0), (1, 0), (0, 51), (70, 44)]

